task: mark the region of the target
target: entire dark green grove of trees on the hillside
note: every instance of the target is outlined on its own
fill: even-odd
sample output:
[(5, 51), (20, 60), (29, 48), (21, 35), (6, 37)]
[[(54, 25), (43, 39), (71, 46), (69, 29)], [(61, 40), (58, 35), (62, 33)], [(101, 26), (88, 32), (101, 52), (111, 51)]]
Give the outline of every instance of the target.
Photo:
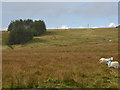
[(7, 44), (24, 44), (33, 39), (33, 36), (42, 35), (46, 31), (46, 25), (43, 20), (15, 20), (8, 25), (10, 31)]

